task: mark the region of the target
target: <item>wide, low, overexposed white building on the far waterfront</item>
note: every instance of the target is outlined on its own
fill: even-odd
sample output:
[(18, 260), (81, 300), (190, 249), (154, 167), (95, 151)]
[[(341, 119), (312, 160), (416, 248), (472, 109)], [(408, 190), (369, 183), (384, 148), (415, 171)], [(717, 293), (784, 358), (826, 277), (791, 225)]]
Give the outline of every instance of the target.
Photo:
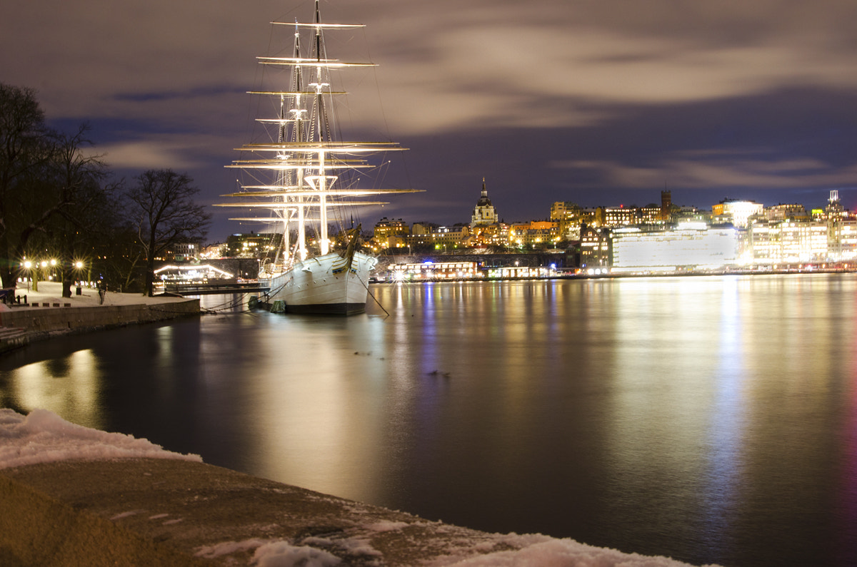
[(716, 269), (738, 262), (738, 240), (732, 228), (703, 223), (680, 224), (675, 230), (613, 230), (611, 272), (674, 272)]

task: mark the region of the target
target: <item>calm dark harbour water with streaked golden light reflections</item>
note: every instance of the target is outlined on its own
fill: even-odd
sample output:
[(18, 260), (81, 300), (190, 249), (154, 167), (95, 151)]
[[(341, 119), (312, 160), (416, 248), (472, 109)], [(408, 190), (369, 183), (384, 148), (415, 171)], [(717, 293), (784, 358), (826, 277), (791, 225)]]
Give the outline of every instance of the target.
[(857, 275), (371, 289), (36, 343), (0, 404), (471, 528), (857, 564)]

